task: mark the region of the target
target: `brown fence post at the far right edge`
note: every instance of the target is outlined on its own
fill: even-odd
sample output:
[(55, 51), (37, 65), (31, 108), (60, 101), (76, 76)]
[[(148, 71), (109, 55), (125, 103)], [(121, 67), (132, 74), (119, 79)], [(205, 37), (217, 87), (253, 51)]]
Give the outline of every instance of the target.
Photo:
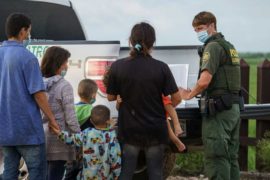
[[(257, 103), (270, 103), (270, 62), (265, 59), (257, 66)], [(270, 129), (270, 121), (257, 119), (256, 137), (260, 139), (264, 136), (266, 130)], [(261, 170), (262, 165), (256, 155), (256, 169)]]

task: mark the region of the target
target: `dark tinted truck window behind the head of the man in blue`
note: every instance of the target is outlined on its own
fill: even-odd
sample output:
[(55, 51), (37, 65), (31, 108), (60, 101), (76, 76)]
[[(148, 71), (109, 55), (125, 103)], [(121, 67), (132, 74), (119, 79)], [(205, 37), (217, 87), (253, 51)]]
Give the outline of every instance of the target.
[(5, 21), (22, 12), (32, 20), (31, 37), (41, 40), (85, 40), (80, 21), (68, 0), (0, 0), (0, 42), (7, 39)]

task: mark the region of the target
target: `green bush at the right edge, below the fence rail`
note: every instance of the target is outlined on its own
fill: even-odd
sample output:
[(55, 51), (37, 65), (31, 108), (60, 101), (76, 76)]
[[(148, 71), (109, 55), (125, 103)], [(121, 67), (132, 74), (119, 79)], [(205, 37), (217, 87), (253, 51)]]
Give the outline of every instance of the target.
[(258, 144), (258, 157), (262, 162), (263, 171), (269, 172), (270, 171), (270, 131), (267, 131), (264, 134), (264, 138), (261, 139)]

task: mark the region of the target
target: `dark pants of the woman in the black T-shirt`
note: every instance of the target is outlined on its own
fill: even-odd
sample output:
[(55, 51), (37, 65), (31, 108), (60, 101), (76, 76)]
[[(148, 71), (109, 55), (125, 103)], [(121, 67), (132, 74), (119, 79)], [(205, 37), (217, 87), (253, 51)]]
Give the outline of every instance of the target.
[(136, 169), (140, 150), (143, 150), (146, 158), (146, 166), (149, 180), (163, 180), (163, 155), (164, 145), (156, 145), (145, 148), (123, 144), (122, 146), (122, 168), (119, 179), (131, 180)]

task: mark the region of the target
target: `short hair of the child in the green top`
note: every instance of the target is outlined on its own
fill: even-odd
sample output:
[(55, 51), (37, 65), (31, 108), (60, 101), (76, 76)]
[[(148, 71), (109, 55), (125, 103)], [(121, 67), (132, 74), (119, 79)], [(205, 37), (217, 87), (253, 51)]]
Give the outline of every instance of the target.
[(78, 86), (78, 95), (80, 98), (91, 99), (93, 94), (97, 93), (97, 83), (92, 79), (83, 79)]

